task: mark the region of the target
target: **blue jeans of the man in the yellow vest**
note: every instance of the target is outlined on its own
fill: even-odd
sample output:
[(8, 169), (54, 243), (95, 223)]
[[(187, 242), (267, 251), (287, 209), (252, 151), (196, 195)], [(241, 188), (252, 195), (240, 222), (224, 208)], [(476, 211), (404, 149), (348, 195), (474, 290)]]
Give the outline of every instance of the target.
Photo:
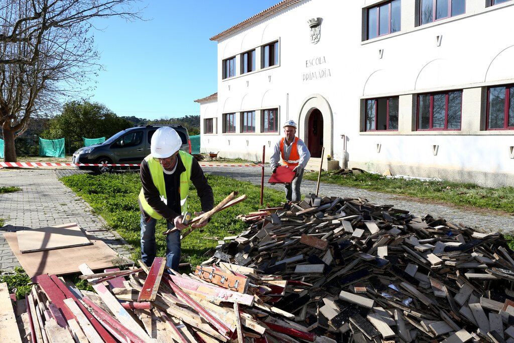
[[(155, 224), (157, 221), (153, 218), (149, 222), (144, 221), (141, 214), (141, 260), (147, 266), (151, 266), (156, 255), (155, 245)], [(172, 222), (166, 221), (168, 229), (175, 227)], [(166, 236), (166, 266), (178, 272), (178, 264), (180, 262), (180, 231), (175, 231)]]

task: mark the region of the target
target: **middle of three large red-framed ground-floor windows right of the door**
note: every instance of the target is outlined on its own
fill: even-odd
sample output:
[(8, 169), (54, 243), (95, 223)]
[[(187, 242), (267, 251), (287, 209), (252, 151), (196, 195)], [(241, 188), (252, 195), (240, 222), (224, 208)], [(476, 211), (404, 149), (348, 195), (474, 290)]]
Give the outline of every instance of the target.
[(461, 117), (462, 91), (417, 97), (418, 130), (461, 130)]

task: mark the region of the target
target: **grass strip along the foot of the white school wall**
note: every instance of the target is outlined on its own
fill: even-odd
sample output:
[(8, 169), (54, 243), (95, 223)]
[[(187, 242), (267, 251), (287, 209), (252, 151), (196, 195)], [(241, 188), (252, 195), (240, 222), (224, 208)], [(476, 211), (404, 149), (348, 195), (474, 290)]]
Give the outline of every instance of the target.
[[(317, 181), (318, 173), (305, 173), (304, 179)], [(391, 178), (372, 173), (344, 176), (322, 172), (321, 182), (514, 213), (514, 187), (484, 188), (474, 184)]]

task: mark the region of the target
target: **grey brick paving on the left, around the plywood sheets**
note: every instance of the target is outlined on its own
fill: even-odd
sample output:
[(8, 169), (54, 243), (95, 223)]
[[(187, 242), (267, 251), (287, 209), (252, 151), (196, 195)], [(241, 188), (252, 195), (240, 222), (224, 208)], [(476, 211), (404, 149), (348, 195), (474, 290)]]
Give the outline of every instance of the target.
[[(75, 170), (8, 169), (0, 170), (0, 186), (20, 187), (22, 191), (0, 194), (0, 232), (77, 223), (84, 230), (103, 240), (119, 255), (130, 258), (131, 247), (114, 230), (109, 230), (101, 216), (58, 179)], [(0, 234), (0, 270), (20, 266), (9, 243)]]

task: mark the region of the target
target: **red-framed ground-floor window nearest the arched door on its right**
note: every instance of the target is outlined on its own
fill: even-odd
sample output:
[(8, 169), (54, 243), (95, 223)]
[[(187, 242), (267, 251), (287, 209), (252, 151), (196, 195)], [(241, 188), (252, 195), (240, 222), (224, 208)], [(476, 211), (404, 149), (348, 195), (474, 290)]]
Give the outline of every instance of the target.
[(366, 131), (398, 130), (398, 99), (367, 99)]

